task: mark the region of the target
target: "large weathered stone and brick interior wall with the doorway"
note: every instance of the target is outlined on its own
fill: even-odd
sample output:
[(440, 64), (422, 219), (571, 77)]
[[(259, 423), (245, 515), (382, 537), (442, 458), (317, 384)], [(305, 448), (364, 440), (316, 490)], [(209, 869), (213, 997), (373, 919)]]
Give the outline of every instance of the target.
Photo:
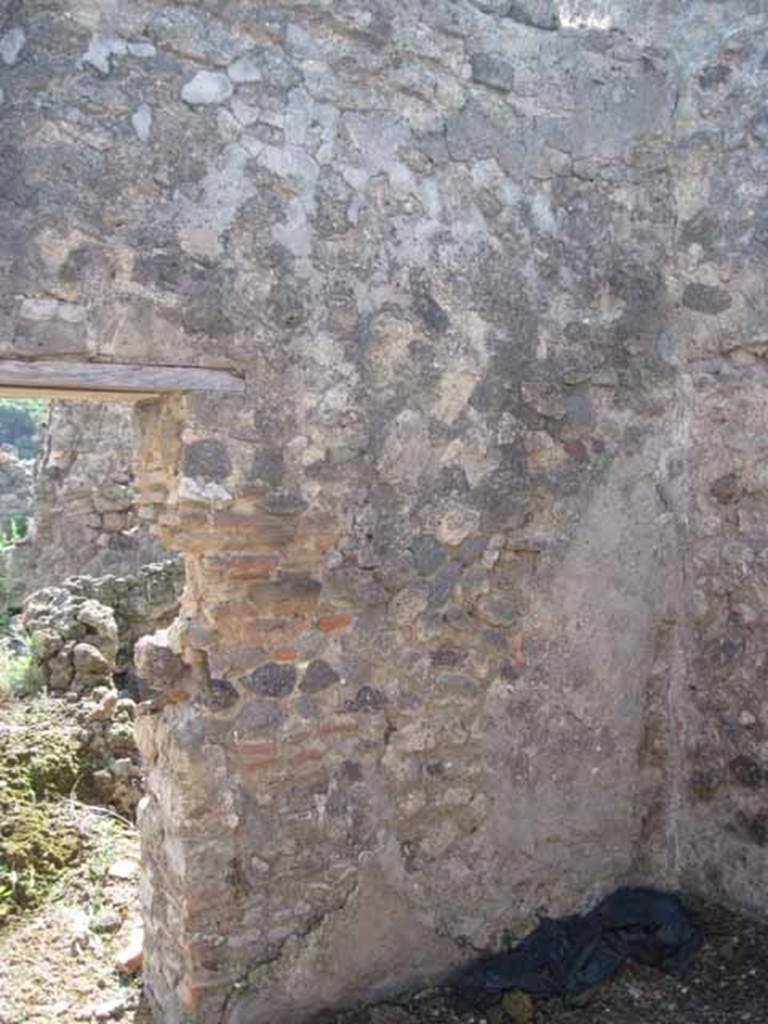
[(0, 357), (247, 384), (137, 410), (157, 1019), (768, 909), (762, 0), (0, 10)]

